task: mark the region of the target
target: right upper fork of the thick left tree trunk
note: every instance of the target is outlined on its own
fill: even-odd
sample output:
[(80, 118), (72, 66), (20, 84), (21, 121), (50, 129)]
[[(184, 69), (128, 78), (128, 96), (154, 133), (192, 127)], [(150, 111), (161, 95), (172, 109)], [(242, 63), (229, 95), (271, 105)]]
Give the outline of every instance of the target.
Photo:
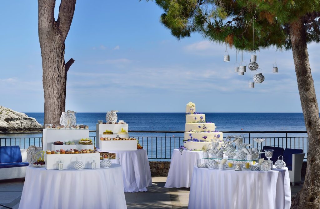
[(76, 0), (61, 0), (57, 23), (64, 39), (67, 38), (75, 7)]

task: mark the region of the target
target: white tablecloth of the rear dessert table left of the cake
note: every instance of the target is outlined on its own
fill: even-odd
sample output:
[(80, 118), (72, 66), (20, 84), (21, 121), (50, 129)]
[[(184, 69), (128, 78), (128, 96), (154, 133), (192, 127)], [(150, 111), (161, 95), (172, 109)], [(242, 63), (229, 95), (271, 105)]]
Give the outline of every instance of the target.
[[(98, 149), (99, 150), (99, 149)], [(147, 150), (106, 151), (116, 153), (112, 163), (120, 163), (123, 171), (124, 192), (146, 192), (152, 186)]]

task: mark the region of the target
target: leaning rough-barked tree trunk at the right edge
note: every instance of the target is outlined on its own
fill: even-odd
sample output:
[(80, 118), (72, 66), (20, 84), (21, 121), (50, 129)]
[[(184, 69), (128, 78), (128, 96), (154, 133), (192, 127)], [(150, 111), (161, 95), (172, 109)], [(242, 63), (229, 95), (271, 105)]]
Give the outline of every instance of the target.
[(320, 208), (320, 119), (311, 76), (303, 17), (290, 23), (292, 54), (297, 74), (302, 112), (309, 139), (308, 165), (301, 191), (292, 199), (292, 208)]

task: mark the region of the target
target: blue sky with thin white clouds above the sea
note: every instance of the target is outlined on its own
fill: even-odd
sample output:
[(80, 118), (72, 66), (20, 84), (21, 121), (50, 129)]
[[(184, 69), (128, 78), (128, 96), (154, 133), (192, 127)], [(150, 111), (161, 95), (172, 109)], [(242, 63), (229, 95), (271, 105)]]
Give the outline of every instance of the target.
[[(1, 4), (0, 105), (43, 112), (37, 1)], [(261, 50), (265, 81), (249, 88), (254, 72), (234, 72), (234, 49), (227, 63), (226, 47), (200, 34), (179, 41), (160, 23), (162, 13), (153, 1), (77, 0), (65, 42), (66, 62), (76, 61), (68, 71), (67, 110), (184, 112), (192, 101), (198, 112), (302, 112), (291, 50)], [(308, 45), (318, 103), (319, 46)], [(272, 73), (275, 58), (279, 73)]]

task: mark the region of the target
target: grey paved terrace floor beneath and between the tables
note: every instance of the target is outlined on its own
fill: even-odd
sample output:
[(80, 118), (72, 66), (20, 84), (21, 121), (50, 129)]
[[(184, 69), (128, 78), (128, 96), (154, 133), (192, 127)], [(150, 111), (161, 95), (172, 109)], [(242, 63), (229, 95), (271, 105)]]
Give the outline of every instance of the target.
[[(152, 177), (153, 185), (147, 192), (125, 193), (128, 209), (188, 208), (189, 188), (164, 188), (166, 177)], [(292, 196), (300, 191), (302, 184), (291, 187)], [(0, 204), (18, 208), (23, 188), (23, 179), (0, 182)], [(0, 209), (5, 209), (1, 207)]]

